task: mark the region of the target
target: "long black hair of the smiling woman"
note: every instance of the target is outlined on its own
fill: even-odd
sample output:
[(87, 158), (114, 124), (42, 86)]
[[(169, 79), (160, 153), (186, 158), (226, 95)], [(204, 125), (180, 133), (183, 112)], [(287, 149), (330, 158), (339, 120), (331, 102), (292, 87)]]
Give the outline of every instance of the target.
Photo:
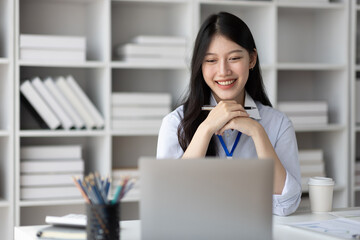
[[(203, 105), (209, 104), (211, 96), (211, 89), (206, 84), (202, 74), (202, 63), (213, 36), (217, 34), (237, 43), (245, 48), (249, 54), (254, 53), (256, 49), (250, 29), (240, 18), (233, 14), (220, 12), (210, 15), (201, 25), (195, 40), (191, 60), (189, 91), (183, 103), (184, 118), (178, 127), (178, 140), (184, 151), (190, 144), (199, 125), (209, 114), (207, 111), (201, 111)], [(246, 82), (245, 90), (255, 101), (271, 106), (264, 90), (259, 57), (257, 57), (254, 68), (249, 70), (249, 78)], [(216, 152), (217, 149), (213, 137), (210, 140), (206, 155), (215, 156)]]

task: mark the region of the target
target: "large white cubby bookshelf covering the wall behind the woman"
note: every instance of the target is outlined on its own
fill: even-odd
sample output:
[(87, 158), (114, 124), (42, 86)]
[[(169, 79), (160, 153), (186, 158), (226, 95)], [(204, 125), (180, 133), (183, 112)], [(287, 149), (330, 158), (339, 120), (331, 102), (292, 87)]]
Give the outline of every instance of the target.
[[(324, 151), (327, 175), (336, 182), (334, 207), (349, 205), (349, 109), (344, 107), (349, 106), (347, 96), (353, 89), (354, 80), (352, 76), (349, 84), (351, 51), (348, 41), (354, 34), (354, 30), (348, 31), (349, 1), (310, 4), (286, 3), (283, 0), (16, 0), (15, 7), (12, 3), (11, 0), (0, 0), (0, 24), (7, 26), (0, 28), (0, 31), (5, 31), (5, 34), (0, 32), (0, 93), (14, 92), (14, 96), (5, 98), (10, 105), (0, 101), (0, 112), (15, 111), (15, 114), (8, 115), (9, 118), (0, 118), (0, 150), (5, 150), (0, 152), (5, 154), (4, 157), (11, 157), (9, 159), (13, 159), (13, 152), (15, 154), (14, 165), (12, 161), (2, 162), (0, 159), (0, 164), (6, 165), (9, 170), (7, 182), (11, 183), (10, 186), (0, 185), (0, 220), (15, 216), (15, 225), (33, 225), (43, 224), (46, 215), (83, 212), (84, 202), (79, 199), (20, 199), (21, 146), (81, 144), (85, 173), (97, 170), (103, 175), (113, 168), (136, 167), (140, 156), (155, 156), (157, 130), (111, 129), (111, 94), (171, 93), (172, 107), (178, 105), (188, 84), (191, 49), (197, 30), (209, 14), (219, 11), (240, 16), (252, 30), (264, 83), (275, 107), (283, 100), (328, 102), (329, 124), (296, 126), (298, 144), (300, 149), (321, 148)], [(12, 15), (2, 6), (14, 7), (9, 11), (15, 14), (14, 23), (11, 22)], [(356, 9), (360, 8), (352, 6), (351, 12), (360, 11)], [(7, 19), (5, 23), (2, 18)], [(20, 60), (18, 42), (23, 33), (85, 36), (86, 62)], [(4, 35), (9, 39), (14, 35), (15, 39), (3, 41)], [(130, 42), (137, 35), (185, 37), (188, 40), (187, 57), (181, 64), (122, 61), (116, 56), (115, 48)], [(5, 46), (1, 45), (2, 41)], [(360, 71), (360, 65), (351, 62), (351, 66), (358, 69), (351, 70), (352, 75)], [(41, 129), (34, 117), (23, 108), (19, 86), (25, 79), (68, 74), (74, 76), (103, 115), (104, 129)], [(15, 80), (11, 81), (13, 78)], [(4, 87), (11, 91), (3, 90)], [(13, 115), (15, 119), (12, 119)], [(359, 191), (359, 188), (353, 189), (357, 190), (351, 190), (351, 193)], [(12, 198), (13, 193), (15, 199)], [(138, 217), (138, 200), (136, 197), (124, 200), (122, 209), (126, 210), (122, 215), (126, 219)], [(15, 214), (12, 214), (13, 210)], [(3, 229), (0, 227), (0, 233), (11, 229), (10, 225)]]

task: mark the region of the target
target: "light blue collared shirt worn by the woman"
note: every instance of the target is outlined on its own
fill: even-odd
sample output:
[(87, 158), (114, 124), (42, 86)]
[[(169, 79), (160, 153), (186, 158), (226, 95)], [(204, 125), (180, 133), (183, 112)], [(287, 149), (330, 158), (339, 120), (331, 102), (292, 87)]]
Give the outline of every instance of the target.
[[(216, 105), (213, 96), (210, 103)], [(246, 94), (244, 105), (256, 107), (256, 109), (247, 110), (247, 112), (251, 118), (257, 120), (264, 127), (277, 156), (286, 169), (286, 180), (282, 194), (273, 195), (273, 214), (289, 215), (295, 212), (301, 200), (300, 165), (294, 127), (285, 114), (269, 106), (264, 106), (260, 102), (254, 102), (248, 94)], [(180, 106), (164, 117), (158, 136), (157, 158), (177, 159), (184, 154), (177, 136), (177, 128), (183, 115), (183, 106)], [(225, 131), (223, 139), (228, 148), (232, 147), (237, 134), (238, 131)], [(219, 151), (217, 155), (226, 158), (219, 139), (215, 139)], [(245, 134), (241, 135), (233, 158), (257, 158), (251, 137)]]

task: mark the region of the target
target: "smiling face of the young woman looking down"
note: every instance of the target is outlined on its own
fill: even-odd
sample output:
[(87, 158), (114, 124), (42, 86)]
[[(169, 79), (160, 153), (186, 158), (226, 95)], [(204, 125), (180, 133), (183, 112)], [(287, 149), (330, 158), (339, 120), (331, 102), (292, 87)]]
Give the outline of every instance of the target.
[(222, 35), (215, 35), (204, 57), (202, 73), (217, 102), (235, 100), (244, 104), (249, 69), (256, 64), (253, 54)]

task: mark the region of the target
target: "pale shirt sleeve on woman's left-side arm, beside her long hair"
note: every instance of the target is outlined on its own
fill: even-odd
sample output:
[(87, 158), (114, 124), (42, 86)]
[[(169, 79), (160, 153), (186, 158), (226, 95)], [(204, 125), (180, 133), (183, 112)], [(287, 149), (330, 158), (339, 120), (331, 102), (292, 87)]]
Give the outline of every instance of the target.
[(184, 151), (180, 147), (177, 129), (180, 124), (180, 117), (177, 112), (172, 112), (163, 118), (156, 150), (158, 159), (177, 159), (181, 158)]

